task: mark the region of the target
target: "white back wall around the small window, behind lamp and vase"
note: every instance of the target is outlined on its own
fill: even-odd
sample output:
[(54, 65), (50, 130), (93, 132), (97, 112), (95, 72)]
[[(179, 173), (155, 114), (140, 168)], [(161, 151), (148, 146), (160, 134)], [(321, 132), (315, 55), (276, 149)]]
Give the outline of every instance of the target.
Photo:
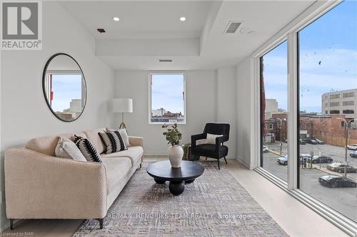
[[(144, 137), (144, 152), (166, 155), (169, 145), (161, 125), (149, 125), (149, 71), (116, 71), (115, 98), (132, 98), (134, 112), (125, 114), (129, 135)], [(116, 115), (116, 126), (121, 115)], [(183, 143), (203, 131), (206, 122), (216, 122), (216, 70), (186, 71), (186, 125), (178, 125)]]

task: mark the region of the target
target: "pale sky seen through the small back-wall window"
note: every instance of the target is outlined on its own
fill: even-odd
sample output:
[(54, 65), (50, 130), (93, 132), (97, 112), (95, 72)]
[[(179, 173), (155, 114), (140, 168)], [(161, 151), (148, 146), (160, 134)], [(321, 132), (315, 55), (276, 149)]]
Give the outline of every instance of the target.
[(183, 74), (153, 74), (151, 85), (151, 109), (163, 107), (166, 111), (183, 111)]

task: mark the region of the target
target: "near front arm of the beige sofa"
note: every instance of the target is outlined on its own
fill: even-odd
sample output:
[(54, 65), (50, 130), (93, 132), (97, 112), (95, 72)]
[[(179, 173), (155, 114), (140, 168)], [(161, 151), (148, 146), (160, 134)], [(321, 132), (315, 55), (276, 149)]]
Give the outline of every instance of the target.
[(104, 218), (106, 167), (31, 149), (5, 152), (7, 218)]

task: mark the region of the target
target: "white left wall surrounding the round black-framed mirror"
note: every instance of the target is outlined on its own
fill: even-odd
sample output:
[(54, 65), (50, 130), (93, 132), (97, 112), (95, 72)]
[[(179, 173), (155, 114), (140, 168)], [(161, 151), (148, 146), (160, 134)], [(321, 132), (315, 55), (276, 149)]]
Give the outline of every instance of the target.
[[(109, 105), (114, 71), (94, 56), (94, 38), (54, 1), (43, 2), (43, 49), (1, 52), (1, 229), (8, 225), (4, 204), (4, 150), (31, 137), (113, 125)], [(54, 53), (76, 58), (86, 78), (88, 98), (75, 122), (61, 122), (46, 105), (41, 76)]]

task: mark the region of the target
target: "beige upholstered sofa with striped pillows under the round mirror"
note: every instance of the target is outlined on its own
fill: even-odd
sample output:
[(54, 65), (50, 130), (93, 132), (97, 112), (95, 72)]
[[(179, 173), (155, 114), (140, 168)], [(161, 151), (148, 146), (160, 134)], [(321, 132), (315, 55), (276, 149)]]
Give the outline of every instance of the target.
[[(77, 132), (99, 152), (104, 145), (98, 135), (104, 129)], [(61, 135), (72, 138), (74, 134)], [(101, 154), (103, 163), (79, 162), (55, 157), (59, 136), (36, 137), (24, 148), (5, 152), (6, 216), (14, 219), (65, 218), (99, 220), (141, 167), (143, 138), (129, 137), (131, 147), (123, 152)]]

